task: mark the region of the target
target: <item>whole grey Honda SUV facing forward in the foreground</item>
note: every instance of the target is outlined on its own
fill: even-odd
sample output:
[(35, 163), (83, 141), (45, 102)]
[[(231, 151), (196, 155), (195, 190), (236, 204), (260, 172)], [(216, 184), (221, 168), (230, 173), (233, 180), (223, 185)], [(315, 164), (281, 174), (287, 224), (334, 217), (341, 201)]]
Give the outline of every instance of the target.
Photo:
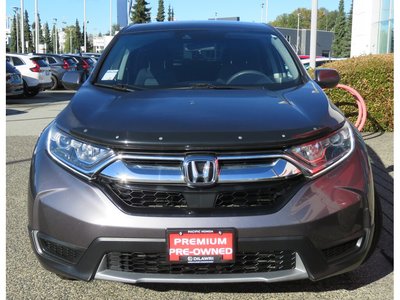
[[(360, 133), (273, 27), (122, 29), (41, 134), (28, 197), (42, 265), (137, 282), (320, 280), (381, 224)], [(79, 72), (64, 75), (77, 89)]]

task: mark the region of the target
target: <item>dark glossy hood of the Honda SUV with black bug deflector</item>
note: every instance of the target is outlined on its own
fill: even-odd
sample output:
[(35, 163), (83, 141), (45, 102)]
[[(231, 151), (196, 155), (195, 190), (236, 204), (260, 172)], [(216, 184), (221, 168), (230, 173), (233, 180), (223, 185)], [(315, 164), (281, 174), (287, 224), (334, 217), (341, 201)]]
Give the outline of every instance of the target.
[(144, 90), (86, 83), (58, 116), (71, 134), (110, 147), (148, 150), (280, 148), (344, 122), (317, 84), (291, 90)]

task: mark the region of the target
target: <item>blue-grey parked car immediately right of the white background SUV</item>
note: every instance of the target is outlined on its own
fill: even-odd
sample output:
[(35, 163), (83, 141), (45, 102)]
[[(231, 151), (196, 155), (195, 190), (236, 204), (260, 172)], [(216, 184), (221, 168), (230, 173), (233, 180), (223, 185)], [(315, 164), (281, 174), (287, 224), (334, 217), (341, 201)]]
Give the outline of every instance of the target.
[(58, 54), (39, 54), (51, 68), (51, 90), (61, 87), (61, 79), (65, 72), (76, 71), (77, 63), (72, 58)]

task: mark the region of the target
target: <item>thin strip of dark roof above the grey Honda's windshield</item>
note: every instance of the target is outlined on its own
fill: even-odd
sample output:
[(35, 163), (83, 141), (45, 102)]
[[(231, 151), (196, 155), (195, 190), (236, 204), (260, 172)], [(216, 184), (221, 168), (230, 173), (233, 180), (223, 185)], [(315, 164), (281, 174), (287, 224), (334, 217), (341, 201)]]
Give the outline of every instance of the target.
[(275, 33), (275, 29), (263, 23), (250, 23), (238, 21), (174, 21), (174, 22), (154, 22), (145, 24), (133, 24), (123, 28), (120, 33), (133, 33), (144, 31), (163, 31), (163, 30), (184, 30), (184, 29), (225, 29), (225, 30), (244, 30), (244, 31), (266, 31)]

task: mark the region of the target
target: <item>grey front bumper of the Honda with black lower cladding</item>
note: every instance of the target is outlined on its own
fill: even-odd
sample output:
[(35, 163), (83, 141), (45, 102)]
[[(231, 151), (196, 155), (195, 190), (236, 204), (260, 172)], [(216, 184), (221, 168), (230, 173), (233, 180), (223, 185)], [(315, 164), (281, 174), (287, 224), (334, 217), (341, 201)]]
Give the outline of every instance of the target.
[[(42, 144), (39, 141), (31, 168), (30, 237), (42, 265), (67, 277), (130, 283), (319, 280), (358, 267), (371, 244), (373, 185), (361, 140), (344, 163), (306, 182), (279, 211), (218, 217), (126, 214), (95, 184), (56, 164)], [(111, 252), (165, 253), (169, 228), (235, 228), (237, 251), (291, 250), (295, 265), (235, 274), (142, 273), (108, 267)], [(38, 237), (61, 250), (46, 251)], [(66, 260), (62, 249), (78, 251), (77, 260)]]

